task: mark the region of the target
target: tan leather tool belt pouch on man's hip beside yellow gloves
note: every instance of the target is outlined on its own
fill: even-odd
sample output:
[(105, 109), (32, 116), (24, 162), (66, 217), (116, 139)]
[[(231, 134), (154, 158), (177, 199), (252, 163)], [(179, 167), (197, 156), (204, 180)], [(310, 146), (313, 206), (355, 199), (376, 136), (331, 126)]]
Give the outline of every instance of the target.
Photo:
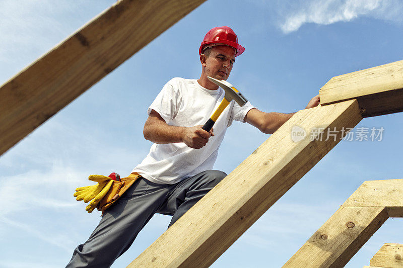
[(120, 182), (113, 181), (109, 191), (97, 205), (97, 209), (102, 212), (102, 216), (105, 210), (112, 206), (139, 177), (141, 177), (141, 175), (135, 172), (131, 173), (128, 177), (121, 178)]

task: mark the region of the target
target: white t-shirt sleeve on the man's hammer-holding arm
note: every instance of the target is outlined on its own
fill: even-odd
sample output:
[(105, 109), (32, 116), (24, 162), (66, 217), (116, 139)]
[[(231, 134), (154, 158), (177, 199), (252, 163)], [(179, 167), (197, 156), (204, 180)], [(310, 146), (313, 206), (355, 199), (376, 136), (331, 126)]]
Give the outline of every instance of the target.
[(170, 123), (177, 114), (178, 92), (175, 92), (173, 85), (168, 82), (162, 87), (161, 92), (147, 110), (150, 115), (151, 110), (155, 110), (161, 115), (166, 123)]

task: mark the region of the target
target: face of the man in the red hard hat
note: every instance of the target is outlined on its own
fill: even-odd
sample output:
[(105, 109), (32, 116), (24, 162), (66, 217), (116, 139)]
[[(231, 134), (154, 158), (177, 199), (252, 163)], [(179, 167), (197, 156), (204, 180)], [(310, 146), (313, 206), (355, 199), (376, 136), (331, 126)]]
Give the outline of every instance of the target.
[(210, 55), (207, 56), (205, 62), (202, 60), (201, 64), (206, 67), (205, 73), (208, 76), (219, 80), (227, 80), (234, 62), (234, 48), (230, 46), (213, 46)]

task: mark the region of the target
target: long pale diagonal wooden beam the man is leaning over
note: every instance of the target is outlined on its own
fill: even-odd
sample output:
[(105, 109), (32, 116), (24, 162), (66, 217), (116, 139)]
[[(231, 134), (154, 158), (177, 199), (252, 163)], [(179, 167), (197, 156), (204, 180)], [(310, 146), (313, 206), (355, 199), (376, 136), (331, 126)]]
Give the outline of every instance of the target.
[[(208, 267), (360, 120), (355, 100), (297, 112), (128, 267)], [(315, 128), (339, 132), (311, 140)]]

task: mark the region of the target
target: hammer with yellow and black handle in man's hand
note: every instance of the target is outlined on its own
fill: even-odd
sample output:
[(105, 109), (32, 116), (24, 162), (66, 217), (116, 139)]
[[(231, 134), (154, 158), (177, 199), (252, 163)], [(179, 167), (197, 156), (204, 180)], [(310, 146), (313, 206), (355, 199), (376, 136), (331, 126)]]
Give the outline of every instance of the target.
[(246, 100), (246, 98), (242, 96), (242, 94), (235, 88), (235, 86), (233, 86), (226, 80), (218, 80), (210, 76), (207, 76), (207, 78), (209, 78), (210, 81), (221, 86), (221, 88), (223, 88), (223, 90), (225, 91), (224, 99), (221, 101), (220, 106), (209, 118), (209, 120), (207, 120), (206, 124), (202, 127), (204, 130), (210, 131), (214, 123), (216, 123), (218, 117), (232, 100), (234, 100), (241, 107), (244, 106), (248, 100)]

